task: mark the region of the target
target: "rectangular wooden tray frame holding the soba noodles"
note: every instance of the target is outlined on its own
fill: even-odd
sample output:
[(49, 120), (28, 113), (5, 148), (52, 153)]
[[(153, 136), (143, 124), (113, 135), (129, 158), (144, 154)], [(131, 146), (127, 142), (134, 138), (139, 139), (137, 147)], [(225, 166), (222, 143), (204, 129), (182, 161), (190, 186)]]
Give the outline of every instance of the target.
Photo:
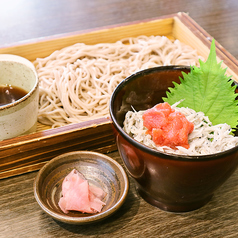
[[(103, 27), (93, 31), (52, 36), (24, 44), (0, 48), (2, 54), (16, 54), (34, 61), (55, 50), (82, 42), (109, 43), (139, 35), (163, 35), (178, 39), (197, 49), (205, 59), (212, 37), (185, 13), (177, 13), (140, 22)], [(223, 60), (227, 74), (238, 82), (238, 61), (218, 42), (218, 60)], [(116, 150), (110, 118), (49, 129), (38, 124), (36, 133), (0, 141), (0, 179), (40, 169), (53, 157), (73, 150), (107, 153)]]

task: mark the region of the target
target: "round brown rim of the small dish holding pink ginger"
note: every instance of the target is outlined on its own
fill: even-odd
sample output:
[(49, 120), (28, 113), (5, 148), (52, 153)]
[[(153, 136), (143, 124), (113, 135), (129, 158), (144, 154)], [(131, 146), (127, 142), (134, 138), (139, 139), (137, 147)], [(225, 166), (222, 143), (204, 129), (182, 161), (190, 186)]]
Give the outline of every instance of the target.
[[(61, 158), (64, 158), (66, 156), (70, 156), (70, 155), (75, 155), (75, 154), (80, 154), (80, 155), (95, 155), (97, 157), (100, 157), (102, 159), (104, 159), (105, 161), (109, 161), (110, 163), (114, 164), (120, 171), (123, 181), (125, 183), (125, 188), (122, 192), (122, 195), (120, 197), (120, 199), (109, 209), (103, 211), (103, 212), (99, 212), (99, 213), (95, 213), (95, 214), (90, 214), (90, 216), (85, 216), (85, 217), (70, 217), (67, 216), (65, 214), (59, 214), (57, 212), (55, 212), (53, 209), (49, 209), (47, 206), (45, 206), (45, 203), (42, 201), (41, 197), (40, 197), (40, 192), (39, 192), (39, 180), (42, 176), (42, 173), (49, 167), (51, 166), (53, 163), (56, 163), (58, 160), (60, 160)], [(37, 173), (35, 179), (34, 179), (34, 184), (33, 184), (33, 189), (34, 189), (34, 196), (35, 199), (37, 201), (37, 203), (40, 205), (40, 207), (43, 209), (43, 211), (45, 211), (48, 215), (50, 215), (51, 217), (53, 217), (54, 219), (61, 221), (61, 222), (65, 222), (65, 223), (70, 223), (70, 224), (87, 224), (87, 223), (92, 223), (92, 222), (97, 222), (100, 221), (110, 215), (112, 215), (115, 211), (117, 211), (124, 203), (128, 192), (129, 192), (129, 178), (127, 176), (127, 173), (125, 172), (125, 170), (123, 169), (122, 165), (120, 165), (116, 160), (112, 159), (111, 157), (99, 153), (99, 152), (93, 152), (93, 151), (72, 151), (72, 152), (67, 152), (67, 153), (63, 153), (61, 155), (58, 155), (56, 157), (54, 157), (53, 159), (51, 159), (50, 161), (48, 161), (41, 169), (40, 171)]]

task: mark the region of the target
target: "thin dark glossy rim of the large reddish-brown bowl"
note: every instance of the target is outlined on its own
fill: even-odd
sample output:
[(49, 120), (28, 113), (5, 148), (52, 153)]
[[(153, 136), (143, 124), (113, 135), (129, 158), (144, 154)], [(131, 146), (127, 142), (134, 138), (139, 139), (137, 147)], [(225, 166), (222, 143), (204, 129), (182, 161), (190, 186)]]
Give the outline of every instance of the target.
[[(192, 66), (191, 66), (192, 67)], [(119, 131), (119, 134), (129, 143), (131, 143), (133, 146), (139, 148), (140, 150), (149, 153), (153, 156), (159, 156), (164, 159), (170, 159), (170, 160), (181, 160), (181, 161), (190, 161), (190, 162), (201, 162), (201, 161), (209, 161), (209, 160), (216, 160), (216, 159), (221, 159), (223, 158), (224, 155), (230, 155), (234, 151), (238, 150), (238, 146), (235, 146), (233, 148), (230, 148), (228, 150), (218, 152), (215, 154), (208, 154), (208, 155), (180, 155), (180, 154), (171, 154), (171, 153), (166, 153), (166, 152), (160, 152), (156, 149), (150, 148), (135, 139), (133, 139), (131, 136), (129, 136), (123, 129), (122, 127), (118, 124), (114, 113), (113, 113), (113, 104), (115, 101), (115, 98), (119, 91), (124, 88), (126, 84), (128, 84), (130, 81), (135, 80), (138, 76), (141, 75), (147, 75), (150, 73), (153, 73), (154, 71), (167, 71), (167, 70), (188, 70), (191, 69), (190, 66), (183, 66), (183, 65), (169, 65), (169, 66), (157, 66), (153, 68), (148, 68), (148, 69), (143, 69), (140, 71), (137, 71), (136, 73), (128, 76), (124, 80), (122, 80), (117, 87), (114, 89), (112, 96), (110, 98), (109, 102), (109, 113), (111, 120), (113, 122), (113, 125), (116, 127), (117, 131)]]

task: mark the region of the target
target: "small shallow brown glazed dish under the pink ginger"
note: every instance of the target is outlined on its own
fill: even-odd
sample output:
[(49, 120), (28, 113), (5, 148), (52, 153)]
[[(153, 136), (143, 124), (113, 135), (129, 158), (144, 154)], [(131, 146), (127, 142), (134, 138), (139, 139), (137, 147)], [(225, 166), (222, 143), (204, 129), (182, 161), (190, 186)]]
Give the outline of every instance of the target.
[[(59, 208), (63, 179), (74, 168), (85, 176), (89, 184), (107, 193), (103, 200), (106, 205), (100, 213), (70, 211), (65, 214)], [(121, 207), (128, 190), (128, 177), (118, 162), (104, 154), (88, 151), (55, 157), (41, 168), (34, 181), (34, 195), (40, 207), (54, 219), (70, 224), (86, 224), (110, 216)]]

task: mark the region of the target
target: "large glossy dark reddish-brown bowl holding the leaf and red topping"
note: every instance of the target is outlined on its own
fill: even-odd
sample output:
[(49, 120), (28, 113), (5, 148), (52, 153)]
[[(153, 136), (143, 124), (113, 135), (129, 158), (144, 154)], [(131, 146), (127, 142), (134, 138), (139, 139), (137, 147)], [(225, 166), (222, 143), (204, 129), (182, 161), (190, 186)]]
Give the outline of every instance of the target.
[(127, 111), (145, 110), (162, 102), (172, 81), (179, 83), (189, 67), (165, 66), (131, 75), (115, 89), (110, 101), (116, 142), (140, 195), (163, 210), (185, 212), (206, 204), (214, 191), (235, 171), (238, 146), (207, 156), (161, 153), (131, 138), (122, 129)]

